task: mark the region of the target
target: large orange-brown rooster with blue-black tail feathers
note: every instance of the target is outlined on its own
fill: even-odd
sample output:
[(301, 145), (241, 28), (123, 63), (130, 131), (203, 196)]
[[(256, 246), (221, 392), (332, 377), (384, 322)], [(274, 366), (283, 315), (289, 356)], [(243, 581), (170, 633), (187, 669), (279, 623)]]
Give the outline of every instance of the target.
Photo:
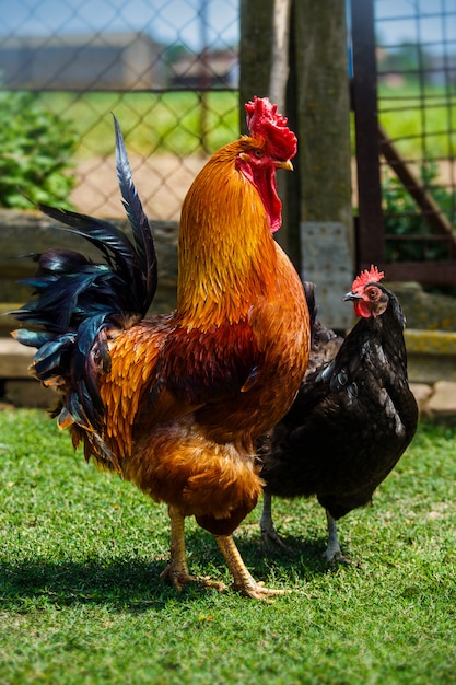
[[(177, 306), (144, 318), (156, 286), (148, 219), (117, 123), (117, 175), (131, 243), (106, 221), (40, 205), (93, 243), (103, 264), (51, 249), (38, 259), (35, 299), (13, 332), (38, 348), (32, 372), (61, 395), (55, 411), (107, 469), (135, 483), (171, 519), (162, 577), (189, 573), (185, 518), (212, 533), (243, 594), (257, 583), (232, 537), (261, 492), (255, 443), (290, 408), (309, 353), (303, 286), (273, 240), (281, 225), (276, 171), (292, 169), (296, 138), (268, 98), (246, 104), (248, 136), (215, 152), (182, 208)], [(287, 379), (287, 382), (283, 382)]]

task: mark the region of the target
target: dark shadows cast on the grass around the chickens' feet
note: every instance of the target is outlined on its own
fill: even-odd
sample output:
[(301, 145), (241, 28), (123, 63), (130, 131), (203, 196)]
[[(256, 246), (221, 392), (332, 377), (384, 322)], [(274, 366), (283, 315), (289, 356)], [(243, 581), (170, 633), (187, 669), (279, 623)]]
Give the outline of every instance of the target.
[[(266, 583), (271, 572), (278, 574), (278, 569), (285, 584), (287, 577), (292, 584), (296, 576), (305, 581), (307, 577), (328, 571), (328, 565), (320, 558), (318, 541), (288, 537), (288, 553), (273, 546), (265, 550), (259, 539), (241, 538), (236, 543), (253, 576)], [(227, 568), (211, 536), (201, 536), (199, 532), (188, 534), (187, 549), (190, 572), (200, 572), (231, 585)], [(114, 611), (136, 613), (162, 609), (169, 600), (188, 601), (208, 592), (197, 584), (182, 592), (169, 587), (160, 577), (166, 562), (164, 558), (149, 561), (139, 557), (61, 561), (46, 557), (12, 561), (0, 557), (0, 604), (15, 611), (104, 604)]]

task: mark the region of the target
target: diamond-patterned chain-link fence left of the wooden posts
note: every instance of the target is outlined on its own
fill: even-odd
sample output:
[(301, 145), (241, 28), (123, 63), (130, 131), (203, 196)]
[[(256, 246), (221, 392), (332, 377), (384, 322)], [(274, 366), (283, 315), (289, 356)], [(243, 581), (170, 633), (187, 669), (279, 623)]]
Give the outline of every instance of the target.
[(238, 136), (238, 1), (0, 0), (0, 88), (32, 91), (75, 131), (73, 206), (124, 213), (114, 113), (149, 216), (177, 220), (208, 155)]

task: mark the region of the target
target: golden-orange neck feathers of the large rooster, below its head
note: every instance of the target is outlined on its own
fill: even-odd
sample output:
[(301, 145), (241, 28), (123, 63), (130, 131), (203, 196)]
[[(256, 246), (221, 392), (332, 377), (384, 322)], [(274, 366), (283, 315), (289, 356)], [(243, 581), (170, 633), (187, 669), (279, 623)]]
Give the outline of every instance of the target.
[[(255, 187), (235, 169), (248, 138), (225, 146), (183, 205), (177, 318), (189, 327), (239, 321), (274, 288), (276, 244)], [(244, 228), (245, 227), (245, 228)]]

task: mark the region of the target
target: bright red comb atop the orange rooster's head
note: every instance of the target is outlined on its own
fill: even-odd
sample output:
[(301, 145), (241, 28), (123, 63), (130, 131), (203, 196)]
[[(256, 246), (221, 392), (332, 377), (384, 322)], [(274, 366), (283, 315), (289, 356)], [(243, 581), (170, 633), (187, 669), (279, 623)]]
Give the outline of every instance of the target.
[(296, 136), (287, 126), (287, 117), (277, 112), (268, 97), (254, 97), (245, 105), (247, 126), (252, 138), (262, 138), (273, 156), (290, 160), (296, 154)]

